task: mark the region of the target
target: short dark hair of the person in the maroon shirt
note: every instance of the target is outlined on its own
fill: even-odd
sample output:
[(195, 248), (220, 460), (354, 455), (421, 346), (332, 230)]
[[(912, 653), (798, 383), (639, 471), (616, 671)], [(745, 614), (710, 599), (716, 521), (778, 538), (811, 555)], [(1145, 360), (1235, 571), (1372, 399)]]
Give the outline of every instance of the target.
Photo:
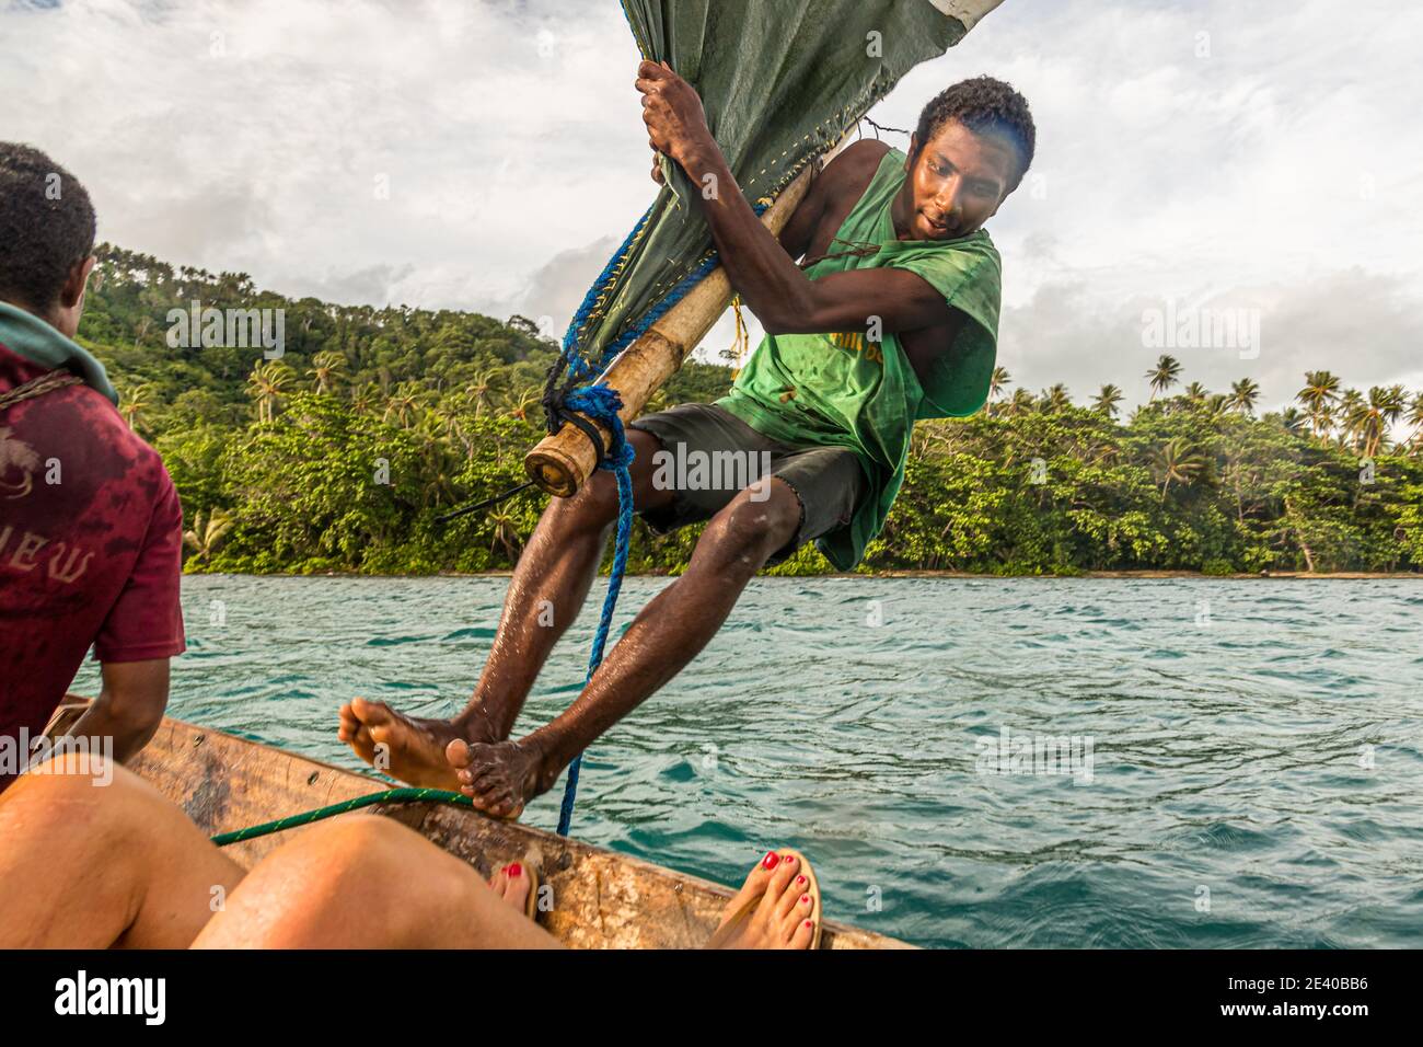
[(94, 252), (94, 204), (80, 181), (28, 145), (0, 142), (0, 299), (48, 309)]

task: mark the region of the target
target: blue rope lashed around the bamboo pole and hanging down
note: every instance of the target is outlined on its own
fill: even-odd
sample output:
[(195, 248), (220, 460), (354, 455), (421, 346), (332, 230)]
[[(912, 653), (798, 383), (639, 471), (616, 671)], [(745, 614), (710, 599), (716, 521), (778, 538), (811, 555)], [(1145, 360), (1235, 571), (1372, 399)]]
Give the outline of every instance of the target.
[[(757, 204), (756, 214), (766, 211), (766, 204)], [(618, 274), (618, 266), (632, 249), (638, 236), (642, 235), (642, 231), (647, 225), (650, 217), (652, 208), (647, 208), (643, 217), (638, 219), (638, 225), (633, 226), (633, 231), (628, 234), (628, 239), (623, 241), (622, 246), (618, 248), (618, 251), (613, 252), (613, 256), (608, 261), (608, 265), (603, 266), (603, 271), (593, 282), (593, 286), (588, 289), (588, 293), (583, 296), (583, 303), (578, 306), (578, 312), (573, 313), (573, 319), (568, 325), (568, 332), (564, 335), (564, 350), (559, 363), (568, 368), (575, 380), (596, 373), (593, 366), (585, 362), (578, 352), (579, 335), (588, 325), (596, 303), (608, 292), (609, 285)], [(702, 265), (680, 279), (660, 302), (643, 313), (636, 323), (628, 328), (628, 330), (613, 339), (601, 353), (599, 370), (606, 369), (608, 363), (610, 363), (618, 353), (647, 333), (647, 328), (662, 319), (667, 309), (686, 298), (687, 292), (692, 291), (692, 288), (696, 286), (707, 274), (710, 274), (717, 264), (719, 258), (713, 251), (706, 261), (702, 262)], [(552, 385), (554, 376), (551, 375), (551, 389)], [(618, 594), (622, 590), (623, 571), (628, 568), (628, 546), (632, 538), (630, 467), (635, 452), (632, 444), (626, 440), (622, 419), (618, 416), (618, 412), (622, 410), (622, 397), (618, 395), (616, 389), (610, 387), (605, 382), (578, 386), (564, 393), (562, 406), (581, 412), (595, 422), (601, 422), (612, 433), (612, 446), (608, 450), (608, 456), (598, 463), (598, 467), (612, 470), (613, 476), (618, 479), (618, 538), (613, 546), (613, 566), (608, 573), (608, 593), (603, 595), (603, 611), (598, 620), (598, 631), (593, 634), (593, 651), (588, 658), (588, 675), (583, 678), (583, 687), (588, 687), (593, 674), (598, 671), (598, 667), (603, 661), (603, 648), (608, 644), (608, 632), (612, 628), (613, 610), (618, 607)], [(568, 835), (568, 829), (573, 821), (573, 802), (578, 798), (578, 772), (582, 766), (583, 754), (578, 754), (573, 758), (573, 762), (568, 765), (568, 782), (564, 785), (564, 802), (558, 811), (559, 836)]]

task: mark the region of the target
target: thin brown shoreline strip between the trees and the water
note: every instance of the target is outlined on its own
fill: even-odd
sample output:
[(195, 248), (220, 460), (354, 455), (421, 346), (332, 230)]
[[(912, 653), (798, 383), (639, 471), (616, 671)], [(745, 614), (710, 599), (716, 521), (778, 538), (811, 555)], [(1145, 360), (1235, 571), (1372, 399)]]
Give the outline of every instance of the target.
[[(387, 578), (511, 578), (514, 571), (437, 571), (435, 574), (363, 574), (360, 571), (314, 571), (310, 574), (299, 571), (270, 571), (255, 574), (249, 571), (184, 571), (184, 577), (228, 575), (236, 578), (370, 578), (381, 581)], [(606, 575), (599, 574), (599, 578)], [(657, 574), (643, 571), (625, 574), (625, 578), (675, 578), (675, 574)], [(1205, 574), (1204, 571), (1080, 571), (1077, 574), (979, 574), (973, 571), (827, 571), (824, 574), (758, 574), (757, 580), (785, 580), (803, 581), (805, 578), (966, 578), (970, 581), (1090, 581), (1097, 578), (1137, 578), (1137, 580), (1165, 580), (1165, 578), (1204, 578), (1207, 581), (1402, 581), (1423, 580), (1423, 571), (1269, 571), (1268, 574)]]

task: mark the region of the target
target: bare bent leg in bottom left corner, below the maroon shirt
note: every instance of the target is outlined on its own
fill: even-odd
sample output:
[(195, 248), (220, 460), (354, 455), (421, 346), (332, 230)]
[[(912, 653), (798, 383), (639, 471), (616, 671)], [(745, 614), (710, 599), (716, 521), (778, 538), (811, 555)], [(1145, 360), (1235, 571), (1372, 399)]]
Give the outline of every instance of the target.
[(0, 949), (188, 947), (242, 866), (127, 768), (63, 761), (0, 796)]

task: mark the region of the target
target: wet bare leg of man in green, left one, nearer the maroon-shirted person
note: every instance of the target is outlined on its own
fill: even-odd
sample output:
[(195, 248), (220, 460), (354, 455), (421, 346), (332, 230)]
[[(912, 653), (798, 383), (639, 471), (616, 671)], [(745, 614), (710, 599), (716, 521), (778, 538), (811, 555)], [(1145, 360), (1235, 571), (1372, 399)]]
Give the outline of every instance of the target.
[[(629, 429), (628, 442), (636, 453), (633, 506), (642, 510), (667, 504), (673, 493), (652, 484), (652, 456), (660, 442), (640, 429)], [(404, 782), (458, 788), (445, 748), (455, 739), (497, 742), (509, 736), (554, 644), (588, 598), (616, 517), (616, 477), (606, 469), (598, 470), (573, 497), (549, 501), (514, 568), (494, 645), (460, 715), (407, 717), (384, 702), (356, 698), (340, 709), (337, 736), (369, 764), (377, 762), (377, 745), (388, 746), (384, 769)]]

